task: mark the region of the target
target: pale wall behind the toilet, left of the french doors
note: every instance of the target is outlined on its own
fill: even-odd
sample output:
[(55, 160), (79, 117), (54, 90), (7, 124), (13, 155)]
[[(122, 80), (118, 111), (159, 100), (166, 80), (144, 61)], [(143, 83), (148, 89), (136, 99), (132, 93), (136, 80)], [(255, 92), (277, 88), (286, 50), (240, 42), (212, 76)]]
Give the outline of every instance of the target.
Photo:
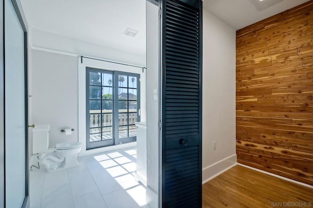
[(77, 57), (32, 50), (32, 121), (51, 125), (49, 147), (78, 140), (77, 68)]

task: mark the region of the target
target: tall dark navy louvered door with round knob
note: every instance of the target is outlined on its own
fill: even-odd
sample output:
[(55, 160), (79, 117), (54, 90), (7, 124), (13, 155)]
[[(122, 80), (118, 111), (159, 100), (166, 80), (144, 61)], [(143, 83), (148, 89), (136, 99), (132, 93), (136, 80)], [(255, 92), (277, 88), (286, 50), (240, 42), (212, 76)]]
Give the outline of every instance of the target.
[(162, 207), (201, 207), (202, 1), (161, 1)]

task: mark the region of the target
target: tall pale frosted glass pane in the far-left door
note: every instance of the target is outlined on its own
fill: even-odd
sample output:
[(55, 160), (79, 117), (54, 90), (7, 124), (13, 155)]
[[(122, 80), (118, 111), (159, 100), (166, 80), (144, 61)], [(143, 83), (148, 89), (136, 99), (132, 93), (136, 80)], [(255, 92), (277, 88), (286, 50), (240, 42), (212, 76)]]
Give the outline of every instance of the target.
[(5, 207), (22, 207), (27, 193), (25, 33), (5, 0)]

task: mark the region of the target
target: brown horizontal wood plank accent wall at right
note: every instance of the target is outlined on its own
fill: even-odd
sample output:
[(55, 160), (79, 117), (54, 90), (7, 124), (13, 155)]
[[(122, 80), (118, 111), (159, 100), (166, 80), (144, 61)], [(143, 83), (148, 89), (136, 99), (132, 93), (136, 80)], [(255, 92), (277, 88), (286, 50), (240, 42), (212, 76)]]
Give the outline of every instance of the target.
[(237, 31), (236, 150), (313, 185), (313, 0)]

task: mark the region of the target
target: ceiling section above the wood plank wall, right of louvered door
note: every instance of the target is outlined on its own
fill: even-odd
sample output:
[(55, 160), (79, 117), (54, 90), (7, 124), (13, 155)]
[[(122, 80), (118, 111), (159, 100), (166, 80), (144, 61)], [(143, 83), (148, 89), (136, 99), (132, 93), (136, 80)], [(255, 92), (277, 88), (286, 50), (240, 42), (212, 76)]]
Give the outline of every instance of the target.
[(238, 30), (306, 1), (309, 0), (203, 0), (203, 8)]

